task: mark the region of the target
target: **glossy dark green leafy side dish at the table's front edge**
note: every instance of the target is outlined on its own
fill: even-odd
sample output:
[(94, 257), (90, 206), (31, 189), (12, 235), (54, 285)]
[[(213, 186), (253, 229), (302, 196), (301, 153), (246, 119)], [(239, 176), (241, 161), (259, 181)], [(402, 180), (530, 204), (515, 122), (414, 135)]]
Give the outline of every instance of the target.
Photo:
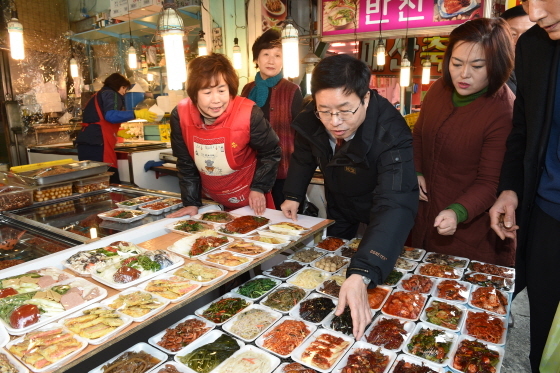
[(198, 373), (208, 373), (239, 350), (232, 337), (222, 335), (212, 343), (196, 348), (185, 356), (179, 356), (181, 363)]

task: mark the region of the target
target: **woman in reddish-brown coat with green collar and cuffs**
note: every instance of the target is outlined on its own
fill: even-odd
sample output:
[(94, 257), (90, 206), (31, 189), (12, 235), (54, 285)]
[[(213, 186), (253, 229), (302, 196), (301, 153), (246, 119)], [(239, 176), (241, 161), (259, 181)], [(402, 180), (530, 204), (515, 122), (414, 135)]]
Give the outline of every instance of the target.
[(514, 95), (505, 21), (481, 18), (450, 35), (443, 77), (428, 91), (413, 131), (420, 206), (411, 244), (513, 265), (514, 243), (497, 239), (487, 210), (496, 200)]

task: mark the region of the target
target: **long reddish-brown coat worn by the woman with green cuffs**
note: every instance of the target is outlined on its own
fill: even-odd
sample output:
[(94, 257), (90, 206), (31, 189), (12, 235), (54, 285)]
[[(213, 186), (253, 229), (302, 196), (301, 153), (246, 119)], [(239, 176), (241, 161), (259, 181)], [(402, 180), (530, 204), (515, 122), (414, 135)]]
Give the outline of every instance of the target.
[[(514, 99), (503, 85), (493, 97), (454, 107), (452, 92), (441, 79), (430, 88), (413, 131), (415, 167), (426, 179), (429, 200), (420, 201), (413, 246), (513, 265), (513, 243), (497, 238), (487, 210), (496, 200)], [(462, 204), (468, 219), (457, 225), (454, 235), (442, 236), (434, 220), (452, 203)]]

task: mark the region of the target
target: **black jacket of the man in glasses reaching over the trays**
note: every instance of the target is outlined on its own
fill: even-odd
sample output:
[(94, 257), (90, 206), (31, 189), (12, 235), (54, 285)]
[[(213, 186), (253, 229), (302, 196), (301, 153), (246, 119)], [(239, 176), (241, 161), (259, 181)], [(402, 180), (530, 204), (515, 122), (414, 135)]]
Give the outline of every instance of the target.
[(364, 123), (333, 155), (329, 135), (313, 110), (311, 102), (292, 123), (295, 151), (284, 194), (301, 202), (319, 166), (330, 208), (346, 220), (368, 225), (347, 276), (364, 275), (372, 279), (370, 287), (376, 286), (393, 269), (418, 209), (410, 129), (389, 101), (372, 90)]

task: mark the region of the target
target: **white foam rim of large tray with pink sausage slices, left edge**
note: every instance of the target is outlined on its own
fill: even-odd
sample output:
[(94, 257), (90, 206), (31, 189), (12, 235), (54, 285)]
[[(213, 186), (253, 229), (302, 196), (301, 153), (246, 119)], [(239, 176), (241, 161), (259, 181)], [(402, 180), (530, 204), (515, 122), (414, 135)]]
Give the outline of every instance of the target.
[[(39, 321), (38, 322), (36, 322), (33, 325), (26, 326), (24, 328), (19, 328), (19, 329), (12, 328), (11, 325), (8, 325), (3, 319), (0, 319), (1, 325), (4, 325), (6, 330), (8, 331), (8, 333), (11, 334), (11, 335), (23, 335), (23, 334), (26, 334), (26, 333), (34, 330), (34, 329), (40, 328), (44, 325), (47, 325), (51, 322), (54, 322), (54, 321), (58, 320), (58, 319), (66, 317), (66, 316), (68, 316), (68, 315), (70, 315), (70, 314), (72, 314), (72, 313), (74, 313), (74, 312), (76, 312), (76, 311), (78, 311), (78, 310), (80, 310), (84, 307), (87, 307), (90, 304), (97, 303), (107, 296), (107, 290), (105, 290), (101, 286), (97, 286), (97, 285), (95, 285), (95, 284), (93, 284), (93, 283), (91, 283), (91, 282), (89, 282), (89, 281), (87, 281), (86, 279), (83, 279), (83, 278), (73, 277), (73, 278), (70, 278), (68, 280), (61, 281), (57, 285), (53, 285), (53, 286), (59, 286), (59, 285), (70, 285), (72, 288), (77, 287), (82, 291), (82, 294), (84, 294), (86, 297), (92, 291), (97, 291), (99, 295), (90, 299), (90, 300), (84, 301), (84, 303), (82, 303), (80, 305), (72, 307), (68, 310), (64, 310), (62, 312), (42, 313), (39, 316)], [(50, 289), (50, 287), (48, 289)], [(94, 289), (97, 289), (97, 290), (94, 290)], [(2, 303), (4, 301), (8, 301), (8, 298), (0, 299), (0, 305), (2, 305)]]

